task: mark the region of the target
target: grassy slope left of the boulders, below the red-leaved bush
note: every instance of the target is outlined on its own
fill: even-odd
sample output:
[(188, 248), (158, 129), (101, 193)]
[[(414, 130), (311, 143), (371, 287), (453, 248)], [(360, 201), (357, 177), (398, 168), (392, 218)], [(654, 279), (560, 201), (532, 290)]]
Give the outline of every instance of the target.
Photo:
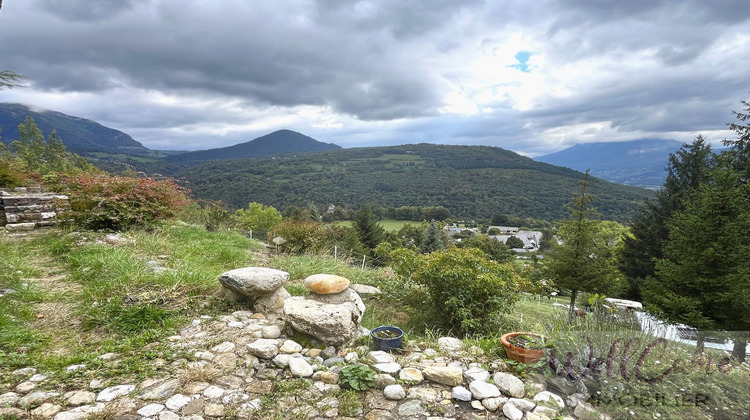
[[(69, 387), (85, 382), (65, 372), (78, 363), (87, 375), (153, 375), (151, 360), (181, 356), (159, 340), (195, 316), (231, 311), (212, 299), (218, 275), (253, 265), (264, 249), (241, 235), (181, 224), (122, 236), (111, 245), (91, 232), (0, 235), (0, 289), (15, 291), (0, 298), (0, 376), (34, 366)], [(107, 352), (121, 354), (120, 363), (98, 361)]]

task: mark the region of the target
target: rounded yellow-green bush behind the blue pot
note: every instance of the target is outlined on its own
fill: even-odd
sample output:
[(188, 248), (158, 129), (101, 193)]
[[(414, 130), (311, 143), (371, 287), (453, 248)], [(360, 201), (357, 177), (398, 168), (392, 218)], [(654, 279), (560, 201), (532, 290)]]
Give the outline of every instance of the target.
[(392, 255), (396, 272), (422, 285), (436, 326), (464, 334), (492, 331), (518, 299), (520, 278), (510, 264), (490, 261), (477, 249), (454, 248)]

